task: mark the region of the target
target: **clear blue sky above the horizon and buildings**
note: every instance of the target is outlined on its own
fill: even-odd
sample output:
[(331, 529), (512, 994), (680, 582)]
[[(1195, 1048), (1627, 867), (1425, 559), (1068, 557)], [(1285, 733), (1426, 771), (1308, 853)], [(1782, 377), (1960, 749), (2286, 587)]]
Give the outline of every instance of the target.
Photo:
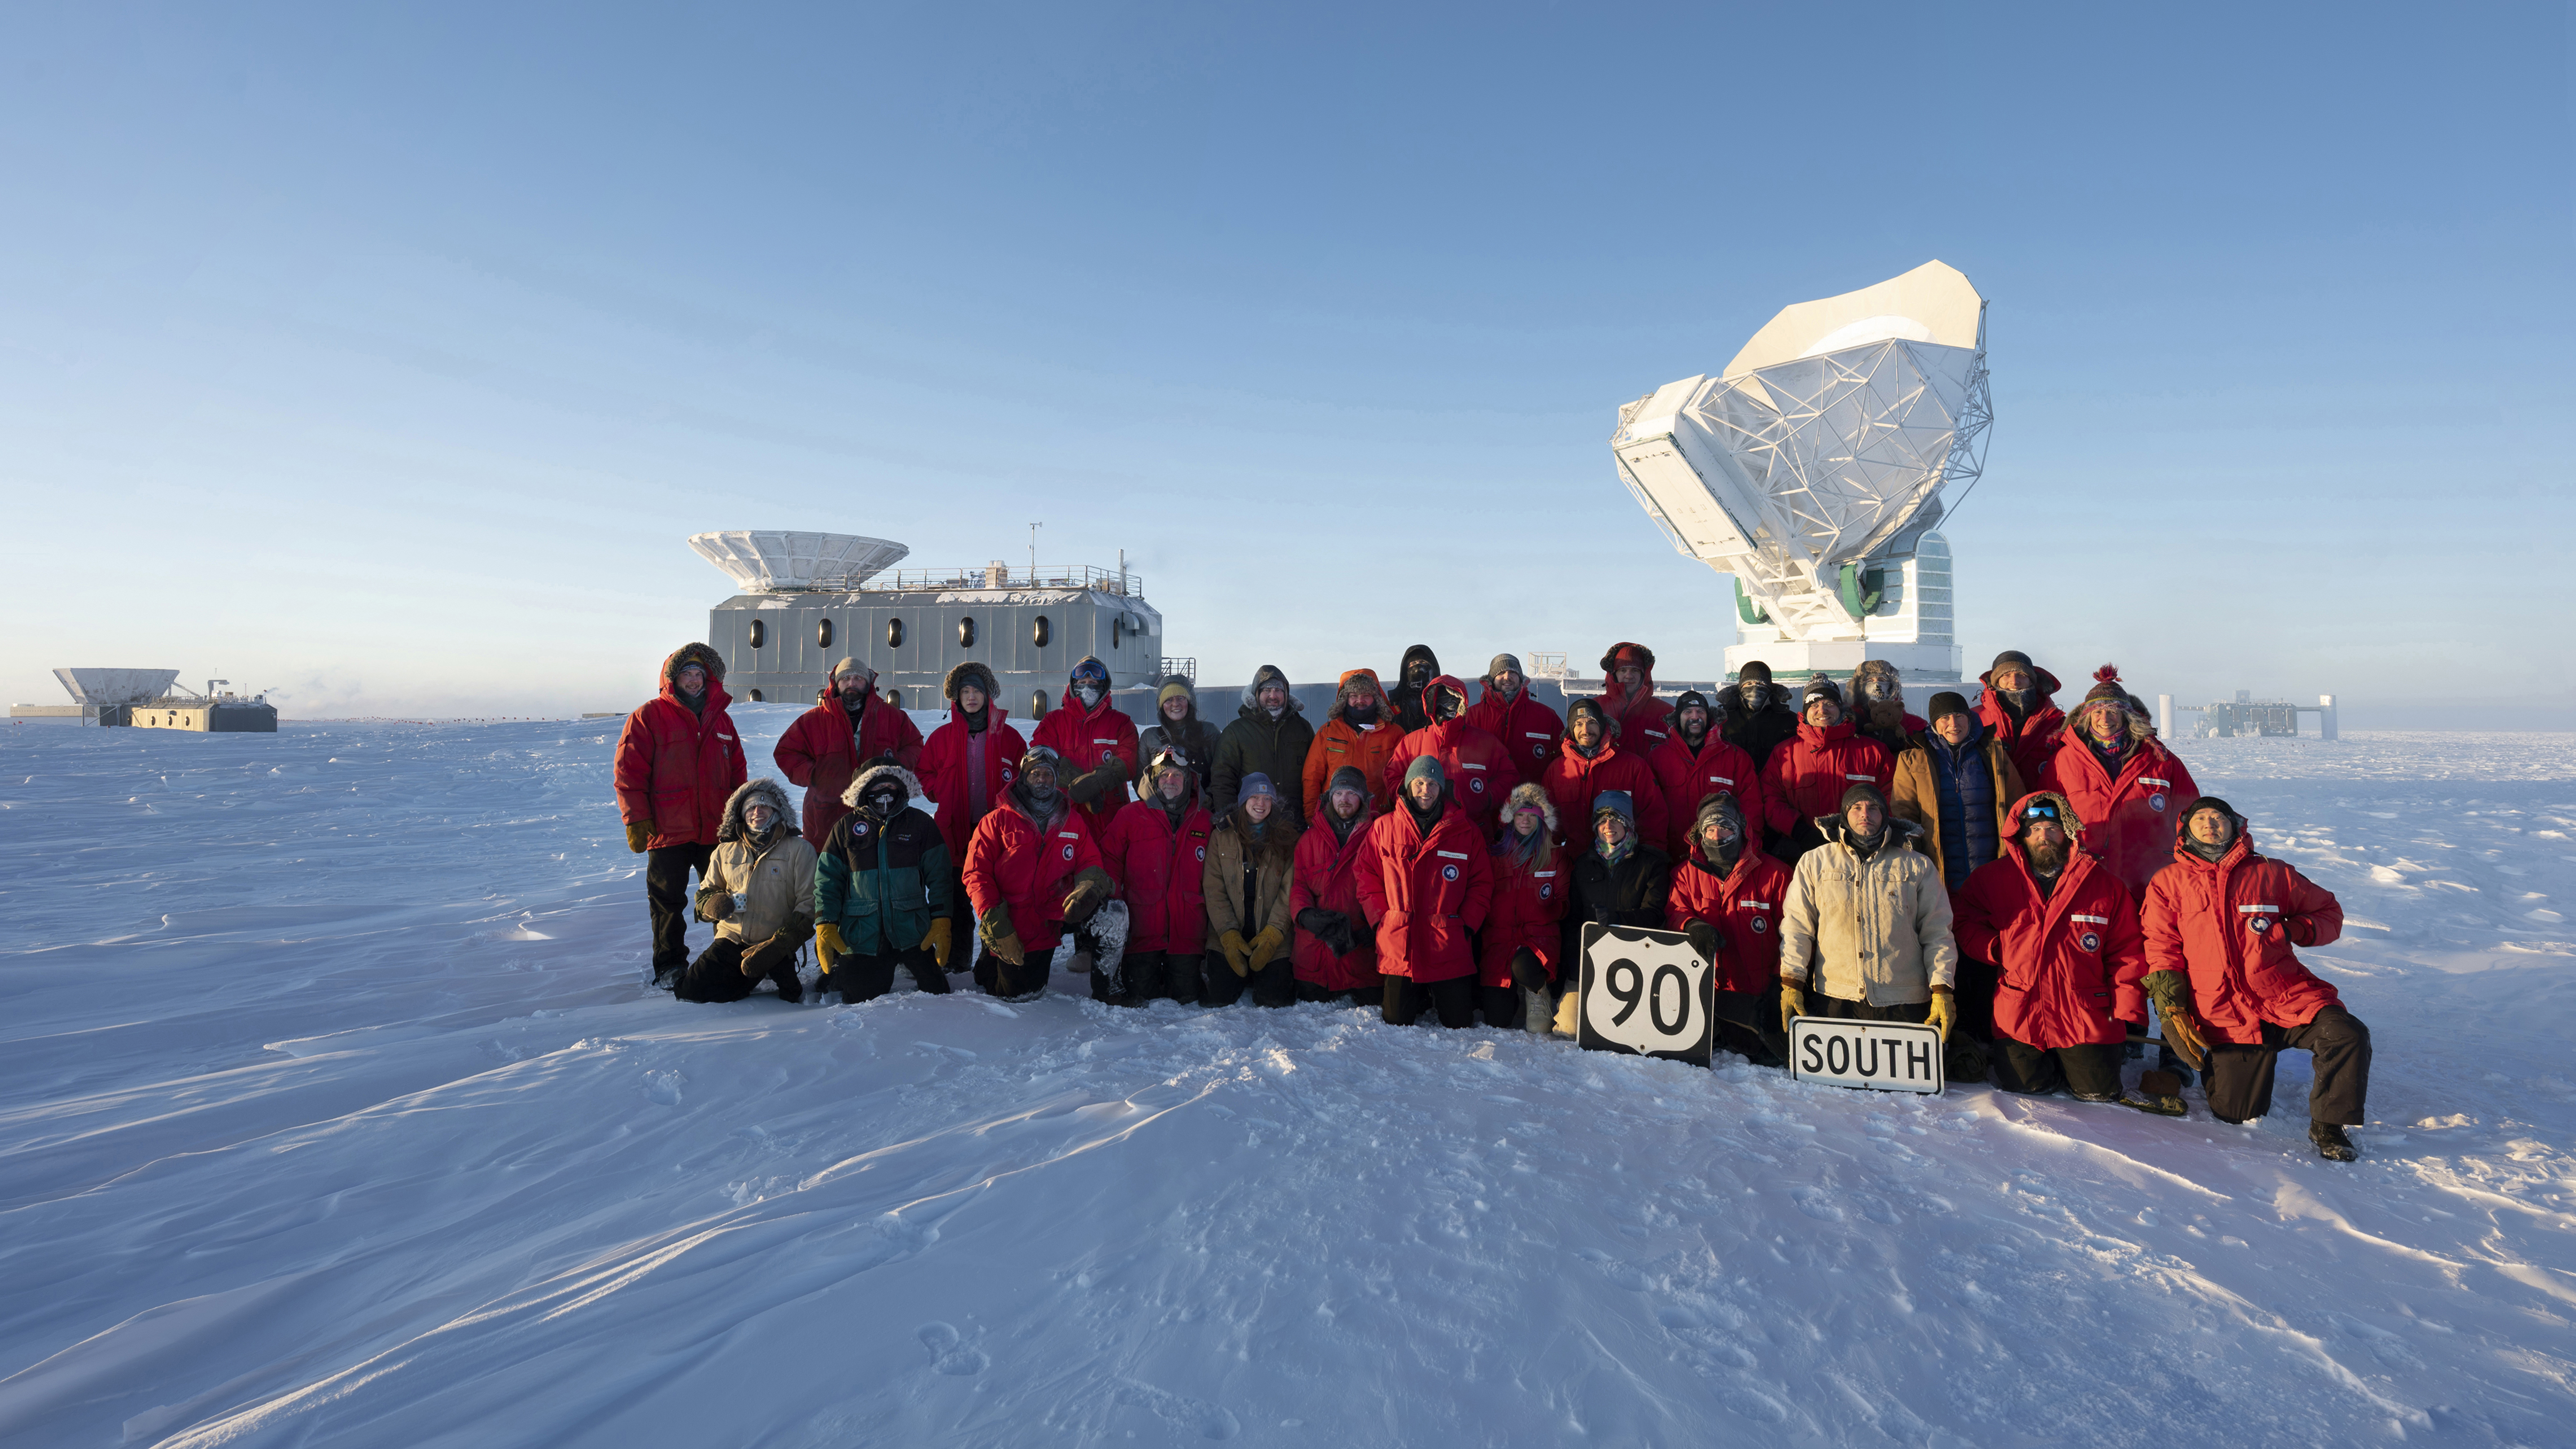
[(531, 10), (0, 13), (10, 700), (626, 708), (688, 533), (1030, 520), (1211, 682), (1708, 677), (1615, 407), (1940, 257), (1971, 672), (2576, 721), (2563, 5)]

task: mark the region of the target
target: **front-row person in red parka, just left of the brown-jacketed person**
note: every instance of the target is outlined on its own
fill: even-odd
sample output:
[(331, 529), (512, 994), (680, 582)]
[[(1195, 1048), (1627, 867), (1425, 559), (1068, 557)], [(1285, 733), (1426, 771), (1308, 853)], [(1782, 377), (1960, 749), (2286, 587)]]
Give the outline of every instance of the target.
[(1198, 803), (1198, 770), (1177, 749), (1164, 749), (1144, 767), (1144, 800), (1118, 811), (1100, 831), (1100, 860), (1128, 903), (1126, 991), (1108, 996), (1113, 1006), (1144, 1006), (1157, 996), (1198, 1004), (1208, 955), (1200, 883), (1213, 829)]

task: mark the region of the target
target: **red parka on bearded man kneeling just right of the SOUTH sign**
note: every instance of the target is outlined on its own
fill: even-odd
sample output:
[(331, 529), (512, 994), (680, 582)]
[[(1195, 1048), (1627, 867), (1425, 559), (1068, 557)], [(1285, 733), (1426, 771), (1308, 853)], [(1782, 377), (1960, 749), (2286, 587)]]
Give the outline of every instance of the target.
[[(2045, 793), (2022, 795), (2012, 813)], [(2146, 934), (2128, 885), (2081, 842), (2066, 852), (2056, 891), (2040, 893), (2017, 836), (1968, 872), (1950, 906), (1960, 955), (1994, 963), (1994, 1029), (2030, 1048), (2128, 1040), (2146, 1019)]]

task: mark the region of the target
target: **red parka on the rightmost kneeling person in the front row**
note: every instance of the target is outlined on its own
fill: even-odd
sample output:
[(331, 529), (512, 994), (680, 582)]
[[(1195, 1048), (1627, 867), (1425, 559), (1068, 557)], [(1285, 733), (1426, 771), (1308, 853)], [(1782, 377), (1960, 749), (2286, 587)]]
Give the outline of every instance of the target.
[(2290, 950), (2344, 934), (2344, 906), (2287, 862), (2254, 854), (2249, 836), (2236, 836), (2215, 865), (2177, 842), (2174, 862), (2146, 888), (2141, 916), (2146, 960), (2136, 978), (2190, 975), (2192, 1014), (2208, 1022), (2213, 1042), (2251, 1048), (2264, 1022), (2306, 1027), (2344, 1004)]

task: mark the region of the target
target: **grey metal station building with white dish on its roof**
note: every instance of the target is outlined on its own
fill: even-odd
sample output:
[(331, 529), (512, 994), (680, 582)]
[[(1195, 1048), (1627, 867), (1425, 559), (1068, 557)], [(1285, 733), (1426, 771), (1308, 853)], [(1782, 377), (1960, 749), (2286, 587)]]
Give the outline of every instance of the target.
[[(1002, 705), (1036, 718), (1064, 692), (1074, 661), (1097, 654), (1110, 690), (1149, 690), (1188, 661), (1164, 659), (1162, 613), (1126, 569), (1005, 561), (894, 569), (907, 553), (855, 533), (696, 533), (688, 546), (742, 589), (706, 615), (737, 700), (809, 705), (840, 659), (876, 669), (899, 708), (938, 708), (948, 669), (994, 672)], [(889, 571), (891, 569), (891, 571)]]

